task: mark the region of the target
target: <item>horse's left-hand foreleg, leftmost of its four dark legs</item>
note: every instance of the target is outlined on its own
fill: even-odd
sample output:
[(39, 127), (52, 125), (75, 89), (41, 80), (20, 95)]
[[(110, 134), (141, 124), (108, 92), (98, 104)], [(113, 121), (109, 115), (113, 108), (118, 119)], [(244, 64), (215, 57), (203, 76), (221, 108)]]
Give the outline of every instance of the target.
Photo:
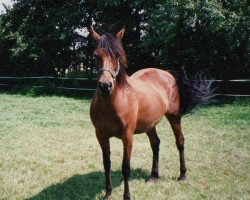
[(105, 199), (109, 199), (112, 192), (112, 182), (111, 182), (111, 161), (110, 161), (110, 143), (108, 138), (103, 138), (98, 136), (98, 141), (100, 143), (102, 149), (102, 156), (103, 156), (103, 166), (105, 170), (105, 182), (106, 182), (106, 195)]

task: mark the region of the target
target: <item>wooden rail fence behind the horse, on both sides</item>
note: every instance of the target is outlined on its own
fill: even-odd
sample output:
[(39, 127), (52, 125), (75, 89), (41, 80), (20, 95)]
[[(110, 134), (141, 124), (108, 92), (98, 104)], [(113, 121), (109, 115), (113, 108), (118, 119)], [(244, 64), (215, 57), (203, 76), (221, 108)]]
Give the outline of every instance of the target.
[[(96, 90), (94, 78), (66, 78), (66, 77), (0, 77), (1, 90), (18, 90), (24, 87), (37, 89), (51, 89), (62, 94), (76, 94), (92, 96)], [(195, 81), (195, 80), (192, 80)], [(224, 97), (250, 97), (250, 79), (242, 80), (213, 80), (215, 94)]]

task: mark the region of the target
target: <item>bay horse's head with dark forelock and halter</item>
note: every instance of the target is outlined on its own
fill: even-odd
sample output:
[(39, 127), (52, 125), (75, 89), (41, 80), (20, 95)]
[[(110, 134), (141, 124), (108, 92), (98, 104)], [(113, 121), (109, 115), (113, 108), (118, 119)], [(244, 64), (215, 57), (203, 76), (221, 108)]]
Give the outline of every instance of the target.
[(94, 51), (96, 65), (99, 68), (97, 89), (103, 96), (110, 96), (116, 85), (126, 85), (127, 60), (121, 43), (124, 31), (125, 28), (116, 36), (110, 33), (100, 36), (91, 27), (92, 36), (97, 41)]

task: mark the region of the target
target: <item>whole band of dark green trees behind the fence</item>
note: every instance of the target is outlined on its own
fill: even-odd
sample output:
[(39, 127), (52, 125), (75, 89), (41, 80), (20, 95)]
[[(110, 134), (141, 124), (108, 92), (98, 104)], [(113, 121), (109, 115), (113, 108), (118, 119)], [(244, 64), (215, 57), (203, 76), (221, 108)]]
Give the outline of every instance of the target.
[(0, 15), (0, 75), (93, 71), (94, 41), (77, 29), (95, 25), (123, 40), (132, 73), (185, 66), (189, 74), (249, 78), (247, 0), (14, 0)]

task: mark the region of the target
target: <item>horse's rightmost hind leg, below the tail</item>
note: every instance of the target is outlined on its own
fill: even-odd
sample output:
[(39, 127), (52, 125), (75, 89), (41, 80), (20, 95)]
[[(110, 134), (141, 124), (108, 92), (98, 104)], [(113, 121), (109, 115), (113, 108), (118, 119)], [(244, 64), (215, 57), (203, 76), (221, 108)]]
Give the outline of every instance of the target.
[(181, 130), (181, 116), (167, 114), (166, 117), (174, 132), (176, 146), (180, 155), (180, 176), (178, 178), (178, 181), (184, 181), (186, 179), (186, 165), (184, 158), (184, 136)]

